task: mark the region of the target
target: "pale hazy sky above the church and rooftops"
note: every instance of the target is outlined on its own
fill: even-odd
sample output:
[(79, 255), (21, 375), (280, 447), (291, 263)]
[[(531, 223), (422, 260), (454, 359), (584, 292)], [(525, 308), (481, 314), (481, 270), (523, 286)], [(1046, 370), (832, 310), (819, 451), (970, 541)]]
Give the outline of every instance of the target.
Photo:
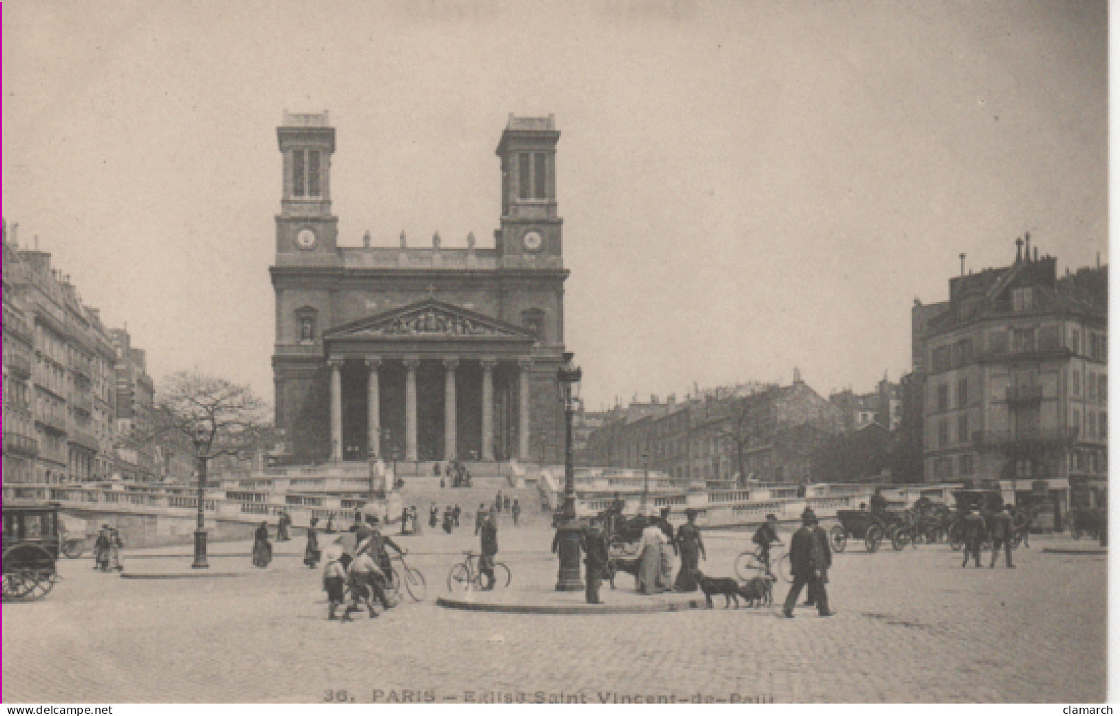
[(272, 399), (276, 127), (330, 112), (339, 243), (493, 245), (554, 114), (589, 409), (907, 372), (911, 307), (1029, 231), (1108, 261), (1105, 2), (3, 3), (3, 216), (157, 381)]

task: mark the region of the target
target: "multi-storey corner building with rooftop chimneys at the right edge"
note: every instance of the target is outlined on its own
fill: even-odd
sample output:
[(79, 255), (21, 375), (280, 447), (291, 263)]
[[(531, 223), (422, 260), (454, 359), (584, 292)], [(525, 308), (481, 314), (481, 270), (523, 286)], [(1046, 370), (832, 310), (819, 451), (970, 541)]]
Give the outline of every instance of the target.
[(1032, 254), (1027, 235), (1011, 266), (953, 278), (950, 299), (923, 309), (915, 374), (926, 482), (1012, 481), (1017, 499), (1045, 501), (1058, 522), (1071, 490), (1099, 493), (1108, 474), (1107, 269), (1060, 278), (1057, 260)]

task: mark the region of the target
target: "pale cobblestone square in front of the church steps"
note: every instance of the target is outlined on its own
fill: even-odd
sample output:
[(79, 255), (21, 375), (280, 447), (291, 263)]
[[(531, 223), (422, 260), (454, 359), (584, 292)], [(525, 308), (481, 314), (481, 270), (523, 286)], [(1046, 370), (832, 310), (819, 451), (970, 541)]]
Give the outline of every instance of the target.
[[(515, 536), (520, 539), (515, 539)], [(551, 584), (551, 532), (503, 524), (501, 558), (519, 584)], [(732, 574), (748, 534), (706, 534), (711, 576)], [(788, 541), (788, 534), (783, 534)], [(428, 582), (424, 603), (377, 620), (326, 621), (320, 570), (281, 545), (264, 571), (248, 556), (214, 557), (244, 576), (121, 579), (60, 560), (44, 601), (3, 608), (3, 699), (25, 701), (358, 701), (428, 691), (463, 700), (550, 696), (619, 699), (698, 694), (774, 701), (1099, 701), (1104, 698), (1107, 559), (1043, 554), (1074, 545), (1037, 538), (1018, 569), (960, 567), (946, 546), (836, 557), (837, 616), (777, 606), (662, 614), (541, 616), (436, 606), (469, 528), (400, 538)], [(519, 543), (520, 542), (520, 543)], [(1084, 542), (1082, 542), (1084, 545)], [(165, 550), (166, 551), (166, 550)], [(213, 552), (248, 552), (215, 545)], [(130, 557), (130, 571), (187, 571), (189, 557)], [(984, 558), (987, 564), (987, 556)], [(619, 589), (633, 589), (628, 575)], [(775, 598), (785, 596), (780, 583)], [(609, 587), (604, 598), (610, 603)], [(392, 694), (391, 694), (392, 692)], [(482, 694), (479, 694), (482, 692)]]

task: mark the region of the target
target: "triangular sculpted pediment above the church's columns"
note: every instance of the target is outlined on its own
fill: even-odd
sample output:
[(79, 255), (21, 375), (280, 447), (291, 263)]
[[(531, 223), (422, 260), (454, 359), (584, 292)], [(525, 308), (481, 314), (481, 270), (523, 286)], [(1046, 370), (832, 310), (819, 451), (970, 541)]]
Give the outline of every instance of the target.
[(326, 332), (328, 341), (347, 340), (505, 340), (532, 343), (525, 328), (435, 298), (354, 320)]

